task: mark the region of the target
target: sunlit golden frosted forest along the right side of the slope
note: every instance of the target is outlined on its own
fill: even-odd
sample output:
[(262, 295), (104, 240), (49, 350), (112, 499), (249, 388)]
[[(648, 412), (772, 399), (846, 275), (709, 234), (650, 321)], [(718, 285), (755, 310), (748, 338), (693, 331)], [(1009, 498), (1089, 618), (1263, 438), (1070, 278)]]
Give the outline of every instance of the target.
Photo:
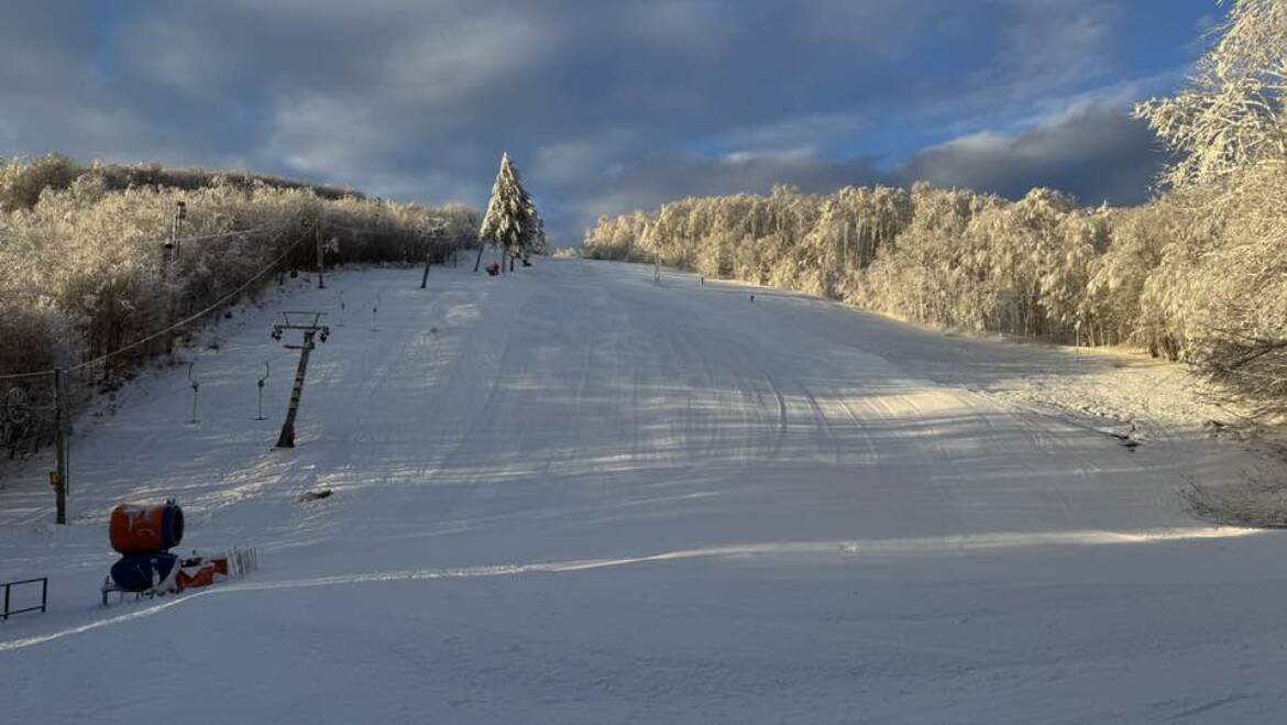
[(1175, 161), (1153, 201), (847, 187), (600, 218), (593, 259), (654, 261), (907, 319), (1185, 361), (1287, 412), (1287, 6), (1239, 0), (1189, 85), (1136, 107)]

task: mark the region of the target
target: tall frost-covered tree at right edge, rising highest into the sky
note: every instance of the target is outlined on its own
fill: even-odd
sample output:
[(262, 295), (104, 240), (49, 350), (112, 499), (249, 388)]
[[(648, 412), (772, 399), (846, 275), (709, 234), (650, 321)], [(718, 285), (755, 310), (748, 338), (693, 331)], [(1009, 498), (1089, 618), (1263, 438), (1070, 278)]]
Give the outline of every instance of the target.
[(1136, 108), (1176, 152), (1163, 180), (1183, 205), (1169, 206), (1190, 210), (1144, 309), (1165, 315), (1167, 354), (1278, 413), (1287, 412), (1284, 99), (1287, 0), (1236, 0), (1189, 86)]

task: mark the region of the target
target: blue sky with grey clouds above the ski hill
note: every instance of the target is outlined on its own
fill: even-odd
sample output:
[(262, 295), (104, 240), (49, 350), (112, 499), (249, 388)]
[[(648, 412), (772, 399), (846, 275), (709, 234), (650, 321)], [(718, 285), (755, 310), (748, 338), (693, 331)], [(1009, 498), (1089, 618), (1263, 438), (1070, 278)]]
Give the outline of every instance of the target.
[(1147, 198), (1134, 100), (1212, 0), (167, 0), (0, 9), (0, 155), (241, 167), (485, 206), (555, 243), (689, 194), (927, 179)]

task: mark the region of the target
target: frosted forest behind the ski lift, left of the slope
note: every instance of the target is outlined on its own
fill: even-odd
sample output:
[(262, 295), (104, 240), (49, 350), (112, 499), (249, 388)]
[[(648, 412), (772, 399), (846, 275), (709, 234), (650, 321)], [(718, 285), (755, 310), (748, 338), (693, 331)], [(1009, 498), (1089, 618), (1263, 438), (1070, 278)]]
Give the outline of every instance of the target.
[(479, 223), (458, 205), (243, 173), (57, 155), (0, 165), (0, 448), (48, 437), (48, 421), (5, 413), (48, 417), (55, 367), (84, 403), (224, 309), (315, 269), (318, 246), (327, 265), (443, 261), (477, 243)]

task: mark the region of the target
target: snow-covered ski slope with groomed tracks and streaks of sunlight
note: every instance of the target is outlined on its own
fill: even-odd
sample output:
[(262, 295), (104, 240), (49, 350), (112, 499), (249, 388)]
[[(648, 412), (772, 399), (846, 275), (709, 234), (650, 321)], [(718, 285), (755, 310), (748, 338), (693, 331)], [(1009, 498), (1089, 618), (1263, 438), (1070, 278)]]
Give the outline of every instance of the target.
[[(651, 277), (539, 260), (420, 290), (416, 270), (347, 272), (224, 323), (194, 355), (198, 424), (183, 368), (127, 388), (77, 428), (73, 525), (49, 523), (41, 466), (0, 489), (0, 579), (51, 577), (48, 614), (0, 623), (0, 720), (1287, 710), (1287, 540), (1194, 522), (1176, 494), (1261, 460), (1179, 413), (1131, 451), (1033, 393), (1134, 363)], [(252, 420), (270, 325), (310, 308), (335, 325), (341, 294), (299, 447), (275, 451), (292, 358)], [(1178, 375), (1133, 370), (1142, 389), (1112, 399)], [(296, 501), (315, 488), (335, 496)], [(109, 507), (171, 496), (185, 547), (255, 545), (261, 569), (98, 607)]]

